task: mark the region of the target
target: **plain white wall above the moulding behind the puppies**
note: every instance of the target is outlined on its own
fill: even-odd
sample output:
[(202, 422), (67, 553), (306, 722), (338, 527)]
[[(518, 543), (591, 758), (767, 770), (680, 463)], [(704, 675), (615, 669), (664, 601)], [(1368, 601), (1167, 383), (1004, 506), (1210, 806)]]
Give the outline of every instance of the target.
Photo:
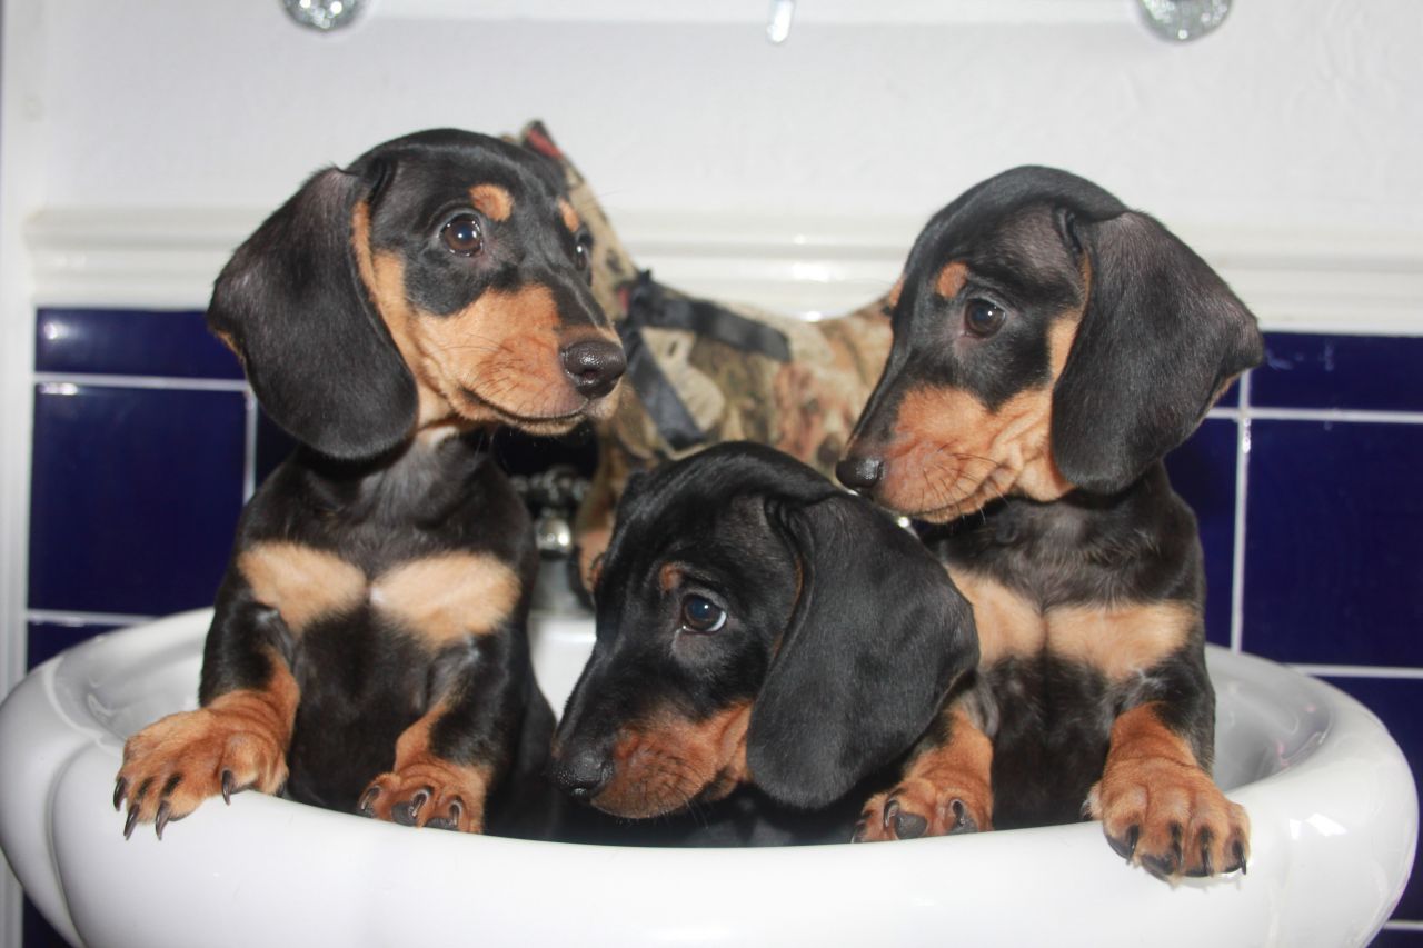
[(1414, 0), (1238, 0), (1184, 46), (1130, 3), (1059, 0), (1084, 13), (1047, 26), (956, 23), (955, 3), (882, 27), (817, 26), (801, 0), (773, 47), (754, 17), (441, 23), (374, 0), (319, 36), (276, 0), (44, 0), (43, 186), (83, 208), (270, 206), (394, 134), (542, 115), (619, 208), (924, 218), (1043, 162), (1188, 225), (1423, 231)]

